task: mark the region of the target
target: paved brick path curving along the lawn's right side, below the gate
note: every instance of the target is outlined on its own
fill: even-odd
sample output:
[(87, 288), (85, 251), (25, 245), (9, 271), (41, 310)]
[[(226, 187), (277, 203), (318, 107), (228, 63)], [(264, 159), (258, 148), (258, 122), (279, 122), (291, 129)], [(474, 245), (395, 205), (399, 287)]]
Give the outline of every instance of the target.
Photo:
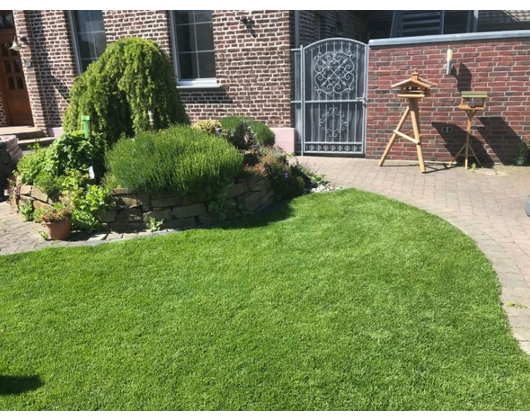
[[(473, 238), (493, 263), (515, 336), (530, 353), (530, 168), (462, 167), (345, 158), (302, 157), (333, 184), (375, 192), (436, 214)], [(450, 240), (448, 238), (447, 240)]]

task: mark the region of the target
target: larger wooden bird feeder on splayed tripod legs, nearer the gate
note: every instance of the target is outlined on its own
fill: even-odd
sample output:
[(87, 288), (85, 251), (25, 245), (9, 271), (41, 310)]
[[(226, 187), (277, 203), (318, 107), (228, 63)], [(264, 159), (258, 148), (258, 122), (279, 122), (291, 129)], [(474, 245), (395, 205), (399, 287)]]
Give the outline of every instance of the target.
[[(436, 83), (433, 83), (427, 79), (422, 79), (417, 70), (414, 70), (410, 79), (392, 86), (392, 89), (399, 89), (399, 98), (408, 99), (408, 106), (405, 109), (405, 113), (401, 117), (397, 128), (394, 130), (392, 137), (390, 137), (386, 150), (383, 153), (383, 157), (379, 161), (379, 166), (383, 166), (386, 161), (386, 158), (388, 157), (388, 154), (390, 153), (390, 150), (392, 150), (392, 146), (399, 137), (404, 140), (411, 141), (416, 145), (421, 172), (426, 172), (425, 161), (423, 160), (423, 150), (421, 148), (421, 123), (419, 101), (420, 99), (429, 96), (431, 89), (436, 86)], [(409, 134), (402, 133), (401, 129), (405, 125), (405, 122), (407, 121), (407, 118), (409, 116), (412, 119), (413, 132)]]

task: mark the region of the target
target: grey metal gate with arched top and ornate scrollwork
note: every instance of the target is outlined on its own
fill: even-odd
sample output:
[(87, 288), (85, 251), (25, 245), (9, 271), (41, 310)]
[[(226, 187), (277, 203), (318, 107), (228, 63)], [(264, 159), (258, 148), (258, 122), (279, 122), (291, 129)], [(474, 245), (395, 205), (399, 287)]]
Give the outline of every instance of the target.
[(368, 46), (333, 38), (293, 53), (301, 153), (364, 155)]

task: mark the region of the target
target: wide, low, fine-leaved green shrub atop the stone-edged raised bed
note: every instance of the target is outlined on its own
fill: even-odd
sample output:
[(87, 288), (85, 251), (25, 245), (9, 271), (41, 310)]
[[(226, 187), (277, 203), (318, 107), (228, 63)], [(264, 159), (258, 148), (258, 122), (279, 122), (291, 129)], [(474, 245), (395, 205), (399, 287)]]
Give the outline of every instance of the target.
[(216, 196), (243, 170), (243, 157), (225, 139), (178, 126), (120, 140), (107, 154), (114, 185), (146, 193)]

